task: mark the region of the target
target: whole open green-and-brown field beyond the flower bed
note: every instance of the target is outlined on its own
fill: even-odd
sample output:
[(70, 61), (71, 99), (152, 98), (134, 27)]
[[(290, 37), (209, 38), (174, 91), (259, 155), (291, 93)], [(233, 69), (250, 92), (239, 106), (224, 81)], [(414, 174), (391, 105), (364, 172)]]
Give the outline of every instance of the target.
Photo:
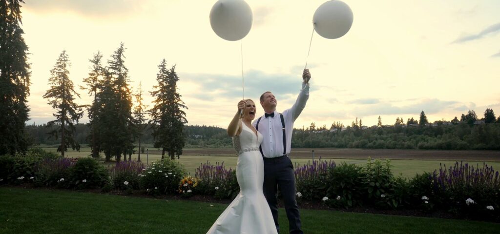
[[(55, 152), (55, 148), (44, 148), (47, 151)], [(184, 149), (179, 162), (182, 163), (187, 172), (194, 175), (194, 169), (201, 163), (224, 162), (227, 168), (235, 168), (237, 157), (233, 149)], [(90, 148), (82, 148), (80, 152), (68, 151), (66, 157), (87, 157)], [(335, 163), (341, 162), (365, 165), (367, 157), (379, 159), (391, 159), (392, 172), (394, 175), (402, 174), (403, 177), (413, 177), (416, 173), (431, 172), (439, 168), (439, 163), (452, 166), (456, 161), (468, 162), (471, 165), (482, 163), (493, 166), (495, 170), (500, 170), (500, 152), (498, 151), (438, 151), (438, 150), (388, 150), (388, 149), (314, 149), (314, 158), (321, 157), (324, 160), (333, 160)], [(312, 160), (312, 149), (292, 149), (290, 157), (292, 162), (305, 164)], [(136, 159), (137, 154), (132, 155)], [(159, 160), (161, 155), (156, 149), (150, 150), (147, 162)], [(141, 160), (146, 163), (146, 154), (141, 154)], [(112, 163), (108, 163), (109, 166)]]

